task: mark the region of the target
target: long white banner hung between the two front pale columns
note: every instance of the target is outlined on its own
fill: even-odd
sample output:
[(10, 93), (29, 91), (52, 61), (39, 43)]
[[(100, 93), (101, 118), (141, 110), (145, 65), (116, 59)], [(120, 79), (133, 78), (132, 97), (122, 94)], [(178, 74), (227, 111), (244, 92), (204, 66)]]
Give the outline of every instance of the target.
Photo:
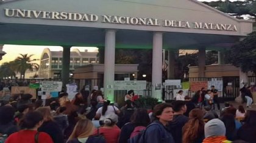
[(146, 90), (146, 81), (114, 81), (114, 90)]

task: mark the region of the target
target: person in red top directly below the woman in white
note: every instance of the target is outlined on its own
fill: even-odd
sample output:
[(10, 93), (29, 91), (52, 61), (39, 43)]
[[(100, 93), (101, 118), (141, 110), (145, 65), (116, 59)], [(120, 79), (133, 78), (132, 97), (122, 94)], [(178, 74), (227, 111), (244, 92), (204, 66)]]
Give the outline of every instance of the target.
[(97, 135), (99, 131), (99, 134), (104, 136), (106, 143), (118, 143), (121, 130), (116, 122), (118, 122), (118, 116), (115, 113), (110, 113), (105, 116), (104, 125), (94, 131), (94, 135)]

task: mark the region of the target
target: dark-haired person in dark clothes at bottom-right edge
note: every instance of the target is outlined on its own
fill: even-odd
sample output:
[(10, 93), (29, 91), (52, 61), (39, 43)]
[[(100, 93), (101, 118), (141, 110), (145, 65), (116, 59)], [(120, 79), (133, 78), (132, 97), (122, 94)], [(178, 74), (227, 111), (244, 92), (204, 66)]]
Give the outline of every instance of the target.
[(244, 124), (238, 130), (237, 137), (249, 143), (256, 141), (256, 111), (247, 110)]

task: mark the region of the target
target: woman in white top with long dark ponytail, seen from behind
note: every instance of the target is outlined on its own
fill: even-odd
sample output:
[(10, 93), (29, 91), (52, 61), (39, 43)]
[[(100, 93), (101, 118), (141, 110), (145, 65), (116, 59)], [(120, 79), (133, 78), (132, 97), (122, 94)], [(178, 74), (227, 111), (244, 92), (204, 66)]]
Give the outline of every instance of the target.
[(120, 113), (120, 110), (115, 107), (114, 105), (110, 105), (110, 101), (105, 101), (103, 103), (103, 107), (99, 108), (96, 111), (96, 116), (95, 118), (99, 118), (99, 124), (103, 125), (104, 124), (104, 119), (106, 116), (112, 114), (112, 113)]

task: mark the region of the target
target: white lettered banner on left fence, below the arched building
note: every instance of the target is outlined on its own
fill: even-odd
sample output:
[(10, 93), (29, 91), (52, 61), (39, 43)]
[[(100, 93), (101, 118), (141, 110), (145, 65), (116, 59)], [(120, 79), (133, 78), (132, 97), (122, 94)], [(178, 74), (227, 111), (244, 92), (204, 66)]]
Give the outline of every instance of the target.
[(41, 91), (62, 91), (61, 81), (41, 81)]

